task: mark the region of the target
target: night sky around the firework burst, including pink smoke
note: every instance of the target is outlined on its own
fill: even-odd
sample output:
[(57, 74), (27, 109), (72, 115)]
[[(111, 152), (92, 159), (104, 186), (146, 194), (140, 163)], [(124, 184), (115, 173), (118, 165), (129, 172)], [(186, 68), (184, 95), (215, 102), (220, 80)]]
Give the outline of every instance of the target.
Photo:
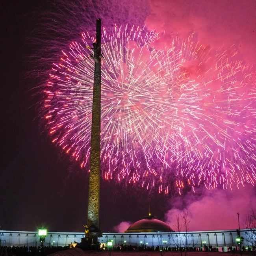
[[(256, 64), (256, 2), (241, 2), (144, 0), (124, 1), (117, 6), (114, 0), (96, 1), (103, 3), (103, 23), (104, 18), (111, 24), (132, 20), (158, 32), (182, 34), (194, 30), (202, 43), (212, 48), (234, 45), (239, 49), (238, 58)], [(61, 9), (59, 2), (56, 6)], [(98, 13), (90, 1), (88, 6), (92, 9), (88, 7), (85, 16), (94, 24)], [(88, 174), (51, 142), (38, 110), (42, 95), (41, 89), (36, 87), (48, 77), (35, 75), (33, 70), (39, 67), (40, 59), (36, 60), (35, 56), (41, 54), (38, 53), (42, 48), (40, 40), (47, 39), (42, 17), (55, 10), (52, 8), (50, 2), (37, 0), (2, 1), (0, 4), (1, 230), (34, 231), (45, 226), (52, 232), (83, 232), (86, 223)], [(111, 8), (113, 11), (109, 11)], [(77, 26), (76, 29), (82, 30)], [(50, 43), (48, 40), (45, 45)], [(63, 38), (61, 43), (69, 42)], [(49, 65), (52, 62), (50, 60)], [(148, 214), (149, 201), (151, 213), (172, 227), (176, 214), (186, 208), (191, 217), (190, 230), (236, 229), (237, 212), (245, 227), (247, 214), (255, 208), (256, 189), (247, 185), (245, 189), (234, 188), (233, 191), (202, 188), (195, 195), (158, 195), (157, 192), (148, 195), (133, 186), (123, 187), (114, 181), (102, 180), (101, 229), (123, 231), (128, 223)]]

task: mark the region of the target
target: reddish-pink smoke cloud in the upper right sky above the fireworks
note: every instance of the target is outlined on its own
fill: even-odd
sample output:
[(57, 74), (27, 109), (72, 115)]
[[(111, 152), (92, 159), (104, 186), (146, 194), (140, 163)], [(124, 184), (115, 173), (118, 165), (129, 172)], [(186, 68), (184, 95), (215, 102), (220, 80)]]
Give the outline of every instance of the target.
[(256, 2), (254, 0), (150, 0), (148, 29), (185, 36), (195, 32), (199, 43), (213, 49), (234, 45), (240, 57), (256, 63)]

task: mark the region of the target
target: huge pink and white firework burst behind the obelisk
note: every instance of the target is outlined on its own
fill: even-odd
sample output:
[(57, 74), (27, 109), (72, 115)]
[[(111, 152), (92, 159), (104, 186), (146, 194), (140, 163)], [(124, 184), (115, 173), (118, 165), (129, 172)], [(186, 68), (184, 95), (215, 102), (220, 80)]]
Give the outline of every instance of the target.
[[(252, 67), (193, 40), (144, 28), (104, 29), (102, 175), (168, 193), (204, 184), (223, 189), (254, 184), (255, 73)], [(88, 168), (94, 38), (82, 33), (55, 63), (45, 89), (53, 142)], [(173, 179), (175, 183), (173, 184)]]

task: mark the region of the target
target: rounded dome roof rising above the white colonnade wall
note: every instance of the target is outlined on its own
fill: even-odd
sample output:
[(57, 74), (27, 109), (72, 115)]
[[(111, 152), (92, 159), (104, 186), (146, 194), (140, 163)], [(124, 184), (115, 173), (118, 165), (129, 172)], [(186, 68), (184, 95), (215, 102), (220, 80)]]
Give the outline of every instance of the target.
[(154, 216), (145, 216), (145, 219), (136, 221), (126, 231), (127, 232), (174, 232), (169, 225), (155, 219)]

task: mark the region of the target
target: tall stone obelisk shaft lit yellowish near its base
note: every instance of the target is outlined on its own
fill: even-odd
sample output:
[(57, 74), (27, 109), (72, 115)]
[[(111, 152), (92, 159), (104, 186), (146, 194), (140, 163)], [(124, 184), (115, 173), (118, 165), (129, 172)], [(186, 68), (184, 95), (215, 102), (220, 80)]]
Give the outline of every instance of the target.
[[(96, 24), (96, 41), (93, 44), (95, 71), (93, 83), (93, 113), (91, 124), (91, 155), (88, 218), (90, 231), (100, 230), (100, 58), (101, 58), (101, 20)], [(93, 229), (94, 228), (94, 229)]]

